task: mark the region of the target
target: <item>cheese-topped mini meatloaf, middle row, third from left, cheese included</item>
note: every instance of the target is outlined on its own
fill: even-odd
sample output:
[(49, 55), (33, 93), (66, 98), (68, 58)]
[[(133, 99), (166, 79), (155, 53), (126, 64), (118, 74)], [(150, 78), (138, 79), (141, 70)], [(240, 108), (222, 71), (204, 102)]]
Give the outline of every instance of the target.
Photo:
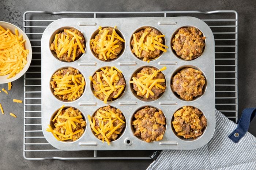
[(136, 91), (136, 95), (143, 99), (158, 99), (166, 88), (165, 75), (161, 72), (165, 70), (163, 67), (161, 70), (157, 70), (154, 67), (144, 67), (140, 72), (132, 77), (133, 90)]

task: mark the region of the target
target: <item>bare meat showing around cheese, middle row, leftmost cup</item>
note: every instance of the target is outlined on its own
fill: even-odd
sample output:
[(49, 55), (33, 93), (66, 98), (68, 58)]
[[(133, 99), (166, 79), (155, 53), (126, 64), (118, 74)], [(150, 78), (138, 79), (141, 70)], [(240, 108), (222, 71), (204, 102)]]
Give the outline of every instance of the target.
[[(68, 72), (69, 72), (69, 75), (74, 75), (74, 76), (76, 76), (76, 75), (81, 75), (78, 70), (76, 70), (75, 68), (71, 68), (71, 67), (68, 67), (68, 68), (59, 70), (59, 71), (57, 71), (56, 73), (54, 73), (54, 75), (64, 77)], [(54, 75), (53, 75), (53, 76), (54, 76)], [(82, 82), (82, 77), (83, 77), (83, 75), (82, 75), (81, 77), (78, 77), (77, 80), (78, 80), (79, 82)], [(62, 95), (56, 94), (56, 93), (59, 91), (59, 90), (57, 89), (57, 83), (56, 83), (56, 81), (53, 81), (53, 80), (52, 80), (52, 81), (50, 82), (50, 84), (51, 84), (51, 87), (53, 88), (53, 95), (57, 96), (57, 97), (58, 97), (59, 99), (61, 99), (61, 100), (68, 100), (68, 98), (73, 94), (72, 91), (71, 91), (70, 93), (68, 93), (68, 94), (62, 94)], [(74, 85), (75, 83), (74, 83), (73, 81), (71, 81), (71, 83), (69, 83), (69, 84), (70, 84), (70, 85)], [(55, 88), (55, 90), (54, 90), (54, 88)], [(67, 90), (68, 90), (68, 89), (69, 89), (69, 87), (67, 87)], [(83, 90), (84, 90), (84, 87), (79, 88), (79, 90), (78, 90), (79, 93), (77, 93), (76, 95), (74, 95), (70, 100), (76, 100), (76, 99), (78, 99), (78, 98), (83, 94)]]

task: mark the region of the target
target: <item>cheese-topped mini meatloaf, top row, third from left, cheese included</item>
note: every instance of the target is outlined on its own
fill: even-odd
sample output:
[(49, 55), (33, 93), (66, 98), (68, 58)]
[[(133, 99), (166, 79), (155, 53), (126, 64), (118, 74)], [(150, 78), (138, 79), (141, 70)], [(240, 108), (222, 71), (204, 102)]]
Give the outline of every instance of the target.
[(161, 37), (164, 37), (164, 35), (161, 35), (162, 34), (158, 30), (150, 27), (134, 33), (131, 41), (132, 52), (143, 61), (157, 58), (160, 55), (161, 51), (166, 52), (165, 48), (168, 48), (167, 46), (162, 44), (163, 39)]

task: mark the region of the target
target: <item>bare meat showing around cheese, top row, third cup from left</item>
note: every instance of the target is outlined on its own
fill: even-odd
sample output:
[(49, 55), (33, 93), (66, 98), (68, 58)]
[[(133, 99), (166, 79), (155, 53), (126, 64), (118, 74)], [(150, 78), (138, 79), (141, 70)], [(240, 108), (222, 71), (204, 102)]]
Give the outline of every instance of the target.
[[(149, 35), (152, 35), (152, 36), (154, 36), (154, 37), (157, 36), (157, 35), (162, 35), (162, 34), (161, 34), (159, 31), (157, 31), (156, 29), (148, 27), (148, 28), (146, 28), (146, 29), (142, 29), (142, 30), (140, 30), (139, 32), (136, 32), (136, 33), (135, 33), (137, 42), (139, 42), (140, 37), (142, 37), (142, 34), (143, 34), (144, 32), (148, 32), (148, 34), (147, 34), (146, 37), (144, 38), (143, 43), (145, 43), (145, 41), (147, 40), (147, 37), (148, 37)], [(158, 39), (158, 42), (159, 42), (159, 43), (163, 43), (163, 39), (162, 39), (162, 38), (159, 38), (159, 39)], [(134, 38), (132, 38), (131, 44), (132, 44), (132, 52), (135, 54)], [(157, 44), (157, 46), (159, 46), (159, 45)], [(161, 46), (159, 46), (159, 47), (161, 47)], [(140, 51), (140, 50), (141, 50), (141, 47), (139, 47), (138, 50)], [(143, 61), (147, 61), (147, 60), (150, 60), (150, 59), (155, 59), (155, 58), (157, 58), (157, 57), (160, 55), (160, 53), (161, 53), (161, 50), (155, 48), (154, 51), (151, 51), (151, 50), (148, 50), (148, 51), (142, 50), (140, 56), (138, 56), (138, 55), (136, 55), (136, 54), (135, 54), (135, 55), (136, 55), (138, 58), (143, 59)]]

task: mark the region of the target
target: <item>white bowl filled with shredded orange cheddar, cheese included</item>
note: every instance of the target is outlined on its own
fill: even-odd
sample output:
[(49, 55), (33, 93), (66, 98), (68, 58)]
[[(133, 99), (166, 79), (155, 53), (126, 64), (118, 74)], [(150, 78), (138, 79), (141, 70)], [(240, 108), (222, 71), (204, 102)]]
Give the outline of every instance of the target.
[(0, 84), (25, 74), (32, 60), (27, 35), (16, 25), (0, 21)]

